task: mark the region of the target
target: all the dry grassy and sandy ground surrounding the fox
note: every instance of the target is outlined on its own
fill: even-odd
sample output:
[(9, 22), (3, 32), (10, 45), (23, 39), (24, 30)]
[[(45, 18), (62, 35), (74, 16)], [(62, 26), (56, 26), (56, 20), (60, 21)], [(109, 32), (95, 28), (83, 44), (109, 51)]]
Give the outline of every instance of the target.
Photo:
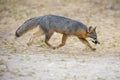
[[(91, 51), (76, 37), (52, 50), (44, 35), (31, 46), (31, 34), (15, 39), (27, 19), (46, 14), (65, 16), (97, 26), (100, 45)], [(0, 80), (120, 80), (119, 0), (0, 0)], [(58, 45), (61, 34), (50, 43)]]

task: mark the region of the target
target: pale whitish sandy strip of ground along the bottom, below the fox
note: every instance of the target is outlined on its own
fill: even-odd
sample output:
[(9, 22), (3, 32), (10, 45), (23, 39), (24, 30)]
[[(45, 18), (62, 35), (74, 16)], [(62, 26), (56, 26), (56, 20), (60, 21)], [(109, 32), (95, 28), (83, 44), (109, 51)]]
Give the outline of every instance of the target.
[(1, 80), (119, 80), (119, 55), (1, 54)]

